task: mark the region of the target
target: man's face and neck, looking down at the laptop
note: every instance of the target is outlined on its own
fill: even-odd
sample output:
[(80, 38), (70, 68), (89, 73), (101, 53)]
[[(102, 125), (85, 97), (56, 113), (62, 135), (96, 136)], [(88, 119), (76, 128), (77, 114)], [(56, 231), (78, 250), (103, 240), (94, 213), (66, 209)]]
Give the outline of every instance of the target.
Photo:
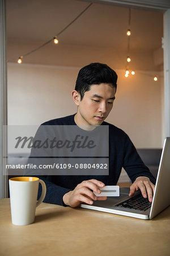
[(78, 112), (75, 115), (77, 125), (101, 125), (113, 107), (116, 89), (112, 84), (91, 85), (84, 93), (83, 100), (78, 101)]

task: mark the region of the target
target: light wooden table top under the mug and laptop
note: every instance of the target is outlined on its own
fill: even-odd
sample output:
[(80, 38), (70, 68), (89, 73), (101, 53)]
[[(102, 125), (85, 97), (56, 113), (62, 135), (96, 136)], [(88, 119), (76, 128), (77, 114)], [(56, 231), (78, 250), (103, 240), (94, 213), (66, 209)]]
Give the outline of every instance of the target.
[(0, 255), (169, 255), (170, 207), (152, 220), (42, 203), (35, 223), (11, 223), (0, 199)]

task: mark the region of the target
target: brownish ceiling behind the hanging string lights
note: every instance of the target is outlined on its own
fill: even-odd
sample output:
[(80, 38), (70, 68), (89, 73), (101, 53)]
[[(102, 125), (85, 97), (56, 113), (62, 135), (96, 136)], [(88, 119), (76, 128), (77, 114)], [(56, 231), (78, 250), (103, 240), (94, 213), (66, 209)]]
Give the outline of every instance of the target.
[[(16, 61), (53, 38), (89, 4), (76, 0), (6, 0), (7, 59)], [(128, 8), (93, 3), (58, 37), (57, 46), (51, 42), (25, 56), (23, 63), (78, 67), (88, 61), (110, 61), (112, 56), (117, 68), (124, 68), (128, 19)], [(163, 13), (131, 9), (130, 29), (130, 54), (137, 68), (162, 70)], [(161, 59), (157, 63), (156, 52)]]

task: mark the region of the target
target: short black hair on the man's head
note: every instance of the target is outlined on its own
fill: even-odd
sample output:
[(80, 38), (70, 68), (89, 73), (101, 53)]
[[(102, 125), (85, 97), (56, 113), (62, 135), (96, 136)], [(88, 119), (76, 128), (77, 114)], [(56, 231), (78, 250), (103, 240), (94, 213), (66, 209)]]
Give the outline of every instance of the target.
[(80, 69), (75, 90), (80, 94), (82, 100), (84, 93), (90, 90), (92, 84), (101, 83), (112, 84), (117, 88), (117, 74), (107, 64), (91, 63)]

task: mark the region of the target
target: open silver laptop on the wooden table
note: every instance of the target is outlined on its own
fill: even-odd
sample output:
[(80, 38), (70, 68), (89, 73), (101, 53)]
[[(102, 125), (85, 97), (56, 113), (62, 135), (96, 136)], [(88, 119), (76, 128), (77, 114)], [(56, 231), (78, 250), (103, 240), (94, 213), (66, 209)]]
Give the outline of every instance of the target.
[(160, 158), (159, 170), (155, 184), (155, 192), (152, 203), (143, 198), (140, 191), (129, 197), (130, 188), (121, 188), (120, 196), (108, 197), (105, 201), (94, 201), (93, 205), (85, 203), (80, 207), (119, 214), (128, 217), (151, 220), (158, 213), (162, 212), (170, 204), (170, 137), (165, 138), (162, 155)]

